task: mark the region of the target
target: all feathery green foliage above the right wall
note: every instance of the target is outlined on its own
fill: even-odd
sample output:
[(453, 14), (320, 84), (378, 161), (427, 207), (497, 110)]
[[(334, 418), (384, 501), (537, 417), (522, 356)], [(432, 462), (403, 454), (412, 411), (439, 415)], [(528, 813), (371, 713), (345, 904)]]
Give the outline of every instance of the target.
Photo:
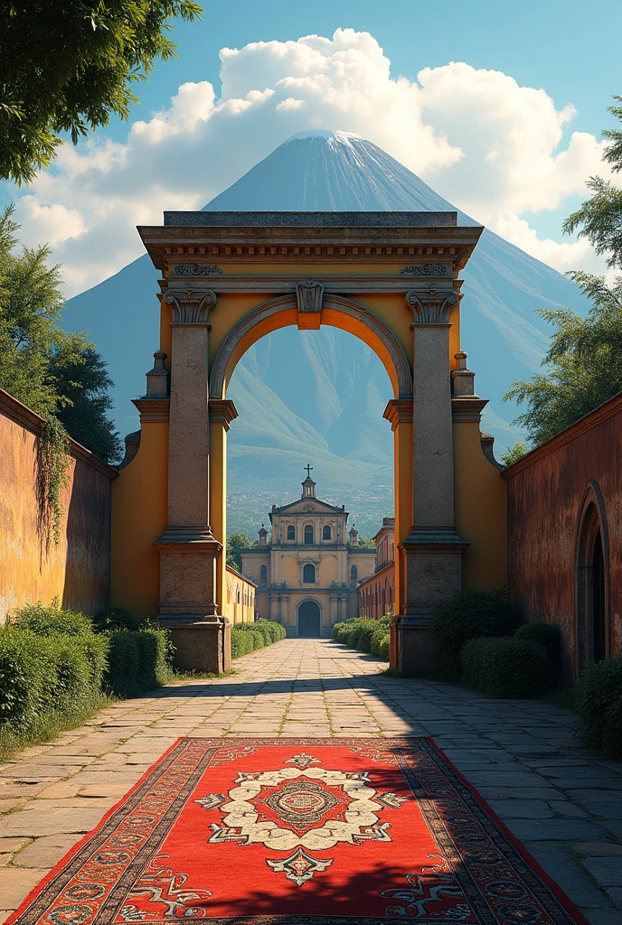
[[(621, 96), (614, 99), (622, 103)], [(610, 106), (609, 112), (622, 121), (622, 106)], [(609, 129), (603, 136), (612, 142), (603, 160), (614, 171), (622, 170), (622, 129)], [(568, 216), (564, 231), (579, 229), (579, 237), (590, 240), (597, 253), (607, 254), (610, 266), (622, 267), (622, 191), (599, 177), (591, 177), (588, 187), (591, 198)], [(527, 410), (515, 423), (527, 429), (535, 444), (554, 437), (622, 389), (622, 276), (611, 286), (605, 277), (579, 270), (568, 276), (591, 300), (589, 314), (541, 309), (539, 314), (555, 328), (542, 361), (545, 371), (515, 382), (504, 395), (504, 401), (526, 403)]]

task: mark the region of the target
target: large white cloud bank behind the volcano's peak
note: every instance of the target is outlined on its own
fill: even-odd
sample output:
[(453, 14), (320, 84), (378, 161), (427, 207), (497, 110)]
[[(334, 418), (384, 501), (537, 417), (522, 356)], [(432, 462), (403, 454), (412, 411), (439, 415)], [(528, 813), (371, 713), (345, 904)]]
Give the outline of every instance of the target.
[(60, 150), (19, 200), (25, 239), (49, 240), (68, 295), (142, 253), (137, 224), (200, 208), (291, 135), (340, 129), (375, 142), (442, 195), (560, 269), (591, 260), (584, 242), (540, 240), (522, 217), (559, 208), (603, 174), (602, 144), (566, 140), (574, 109), (544, 90), (465, 63), (392, 77), (367, 32), (258, 42), (221, 53), (222, 92), (180, 86), (168, 108)]

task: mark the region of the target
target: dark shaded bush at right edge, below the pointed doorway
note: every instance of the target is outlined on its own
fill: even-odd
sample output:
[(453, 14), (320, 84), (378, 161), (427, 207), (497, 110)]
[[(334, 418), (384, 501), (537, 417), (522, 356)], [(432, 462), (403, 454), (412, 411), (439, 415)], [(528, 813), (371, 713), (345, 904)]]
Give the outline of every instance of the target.
[(622, 758), (622, 656), (586, 665), (577, 707), (585, 745)]

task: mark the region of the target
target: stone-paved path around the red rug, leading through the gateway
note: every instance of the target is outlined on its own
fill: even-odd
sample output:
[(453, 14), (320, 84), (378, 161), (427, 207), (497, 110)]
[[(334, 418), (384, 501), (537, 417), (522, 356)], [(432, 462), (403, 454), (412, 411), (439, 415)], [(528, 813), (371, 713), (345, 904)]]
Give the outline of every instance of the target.
[(573, 716), (407, 681), (329, 640), (283, 640), (169, 685), (0, 766), (0, 922), (180, 735), (431, 735), (592, 925), (622, 920), (622, 763)]

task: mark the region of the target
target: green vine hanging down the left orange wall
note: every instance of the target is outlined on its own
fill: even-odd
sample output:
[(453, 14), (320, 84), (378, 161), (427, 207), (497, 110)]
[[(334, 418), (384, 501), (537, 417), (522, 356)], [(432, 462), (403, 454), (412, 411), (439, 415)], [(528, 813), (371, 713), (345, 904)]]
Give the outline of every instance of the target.
[(53, 415), (45, 418), (44, 427), (37, 438), (36, 453), (37, 526), (47, 553), (52, 540), (55, 546), (60, 541), (60, 525), (65, 512), (60, 496), (68, 484), (71, 463), (68, 433)]

